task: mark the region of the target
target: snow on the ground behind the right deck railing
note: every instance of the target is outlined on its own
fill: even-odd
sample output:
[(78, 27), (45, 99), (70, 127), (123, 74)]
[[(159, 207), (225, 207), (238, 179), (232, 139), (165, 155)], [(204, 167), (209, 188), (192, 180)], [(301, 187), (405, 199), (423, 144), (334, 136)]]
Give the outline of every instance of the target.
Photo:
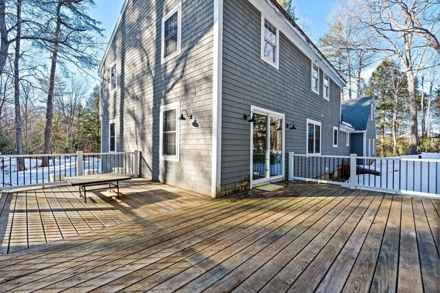
[[(375, 160), (362, 167), (381, 172), (380, 176), (359, 174), (356, 183), (363, 186), (397, 189), (415, 193), (440, 193), (440, 161), (420, 162), (419, 155), (402, 155), (402, 160), (393, 158)], [(422, 153), (422, 160), (440, 160), (440, 153)], [(387, 169), (388, 166), (388, 169)]]

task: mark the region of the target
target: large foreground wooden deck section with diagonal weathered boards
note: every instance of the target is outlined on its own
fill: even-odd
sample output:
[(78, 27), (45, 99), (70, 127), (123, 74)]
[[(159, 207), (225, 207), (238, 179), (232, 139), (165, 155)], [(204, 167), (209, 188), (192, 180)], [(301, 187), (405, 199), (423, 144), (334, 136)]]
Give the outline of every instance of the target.
[(0, 256), (0, 292), (439, 292), (439, 204), (317, 184), (196, 198)]

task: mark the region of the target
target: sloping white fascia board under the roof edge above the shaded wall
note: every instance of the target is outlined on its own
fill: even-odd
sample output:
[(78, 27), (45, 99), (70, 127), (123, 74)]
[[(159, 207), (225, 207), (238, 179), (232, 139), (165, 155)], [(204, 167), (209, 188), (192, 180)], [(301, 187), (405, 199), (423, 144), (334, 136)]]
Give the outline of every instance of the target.
[(323, 59), (316, 49), (307, 43), (305, 37), (289, 23), (285, 17), (281, 15), (278, 8), (274, 7), (270, 0), (249, 0), (250, 3), (255, 6), (261, 13), (265, 14), (265, 17), (269, 19), (274, 26), (276, 26), (287, 38), (296, 45), (312, 62), (316, 62), (316, 65), (322, 69), (327, 76), (337, 83), (340, 87), (345, 87), (347, 83), (342, 80), (339, 74), (332, 66)]

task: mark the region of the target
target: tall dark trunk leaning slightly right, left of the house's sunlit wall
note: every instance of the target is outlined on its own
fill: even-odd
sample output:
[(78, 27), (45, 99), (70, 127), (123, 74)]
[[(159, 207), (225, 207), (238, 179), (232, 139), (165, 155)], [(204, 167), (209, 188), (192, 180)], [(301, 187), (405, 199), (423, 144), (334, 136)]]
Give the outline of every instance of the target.
[[(52, 48), (52, 65), (50, 67), (50, 79), (49, 90), (47, 92), (47, 107), (46, 107), (46, 125), (44, 129), (44, 153), (51, 152), (52, 143), (52, 119), (54, 117), (54, 86), (55, 86), (55, 72), (56, 72), (56, 59), (58, 58), (58, 42), (61, 32), (61, 1), (58, 2), (56, 7), (56, 31), (54, 39), (54, 47)], [(49, 165), (49, 158), (45, 157), (43, 160), (43, 166)]]

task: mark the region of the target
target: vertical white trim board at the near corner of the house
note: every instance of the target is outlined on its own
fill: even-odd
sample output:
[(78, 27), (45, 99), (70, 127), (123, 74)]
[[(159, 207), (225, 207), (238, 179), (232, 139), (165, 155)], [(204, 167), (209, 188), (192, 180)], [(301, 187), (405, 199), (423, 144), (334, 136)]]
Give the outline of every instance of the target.
[(211, 195), (221, 192), (221, 83), (223, 72), (223, 0), (214, 0), (214, 44), (212, 65), (212, 169)]

